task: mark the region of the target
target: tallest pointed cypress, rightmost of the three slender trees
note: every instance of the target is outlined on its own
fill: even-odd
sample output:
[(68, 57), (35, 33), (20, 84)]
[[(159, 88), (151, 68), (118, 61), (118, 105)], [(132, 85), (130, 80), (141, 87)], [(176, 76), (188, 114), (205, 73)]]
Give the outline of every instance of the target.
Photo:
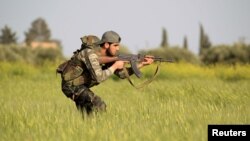
[(211, 47), (211, 42), (208, 35), (204, 32), (203, 26), (200, 24), (200, 51), (199, 54), (202, 56), (206, 50)]

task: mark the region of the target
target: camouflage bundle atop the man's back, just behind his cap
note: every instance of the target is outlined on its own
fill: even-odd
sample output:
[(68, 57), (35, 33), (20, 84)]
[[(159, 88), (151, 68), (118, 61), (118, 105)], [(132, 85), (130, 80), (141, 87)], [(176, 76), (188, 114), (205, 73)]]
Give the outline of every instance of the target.
[(95, 35), (87, 35), (80, 38), (84, 46), (98, 46), (100, 39)]

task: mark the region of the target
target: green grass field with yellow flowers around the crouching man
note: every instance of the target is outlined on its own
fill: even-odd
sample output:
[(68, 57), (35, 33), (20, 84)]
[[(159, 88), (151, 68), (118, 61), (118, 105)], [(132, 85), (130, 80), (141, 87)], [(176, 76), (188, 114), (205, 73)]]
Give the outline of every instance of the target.
[(206, 141), (208, 124), (250, 123), (249, 65), (166, 64), (143, 89), (109, 79), (92, 90), (107, 112), (83, 118), (55, 66), (0, 63), (0, 140)]

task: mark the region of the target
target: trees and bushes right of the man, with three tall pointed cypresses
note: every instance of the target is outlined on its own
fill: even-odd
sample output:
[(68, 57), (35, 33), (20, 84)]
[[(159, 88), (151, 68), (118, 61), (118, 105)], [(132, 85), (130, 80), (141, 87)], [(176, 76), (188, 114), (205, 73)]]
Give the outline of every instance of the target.
[(250, 63), (250, 45), (237, 42), (233, 45), (212, 45), (208, 34), (200, 24), (199, 54), (189, 51), (187, 36), (183, 38), (182, 47), (171, 46), (168, 42), (167, 30), (162, 29), (162, 41), (159, 47), (141, 50), (140, 53), (173, 58), (177, 62), (195, 64), (247, 64)]

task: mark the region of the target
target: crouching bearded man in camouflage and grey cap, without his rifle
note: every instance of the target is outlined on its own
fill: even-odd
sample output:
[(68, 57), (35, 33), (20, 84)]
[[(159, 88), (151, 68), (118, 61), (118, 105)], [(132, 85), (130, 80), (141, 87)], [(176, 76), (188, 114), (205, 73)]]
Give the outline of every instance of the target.
[[(61, 64), (57, 72), (61, 73), (62, 91), (71, 98), (78, 110), (87, 114), (93, 111), (105, 111), (106, 104), (90, 88), (105, 81), (112, 74), (125, 78), (124, 62), (115, 61), (102, 64), (100, 56), (116, 56), (120, 48), (120, 36), (114, 31), (107, 31), (102, 39), (89, 35), (81, 38), (80, 50), (74, 52), (70, 60)], [(150, 58), (138, 64), (141, 68), (153, 62)], [(129, 75), (133, 74), (131, 68), (127, 68)]]

